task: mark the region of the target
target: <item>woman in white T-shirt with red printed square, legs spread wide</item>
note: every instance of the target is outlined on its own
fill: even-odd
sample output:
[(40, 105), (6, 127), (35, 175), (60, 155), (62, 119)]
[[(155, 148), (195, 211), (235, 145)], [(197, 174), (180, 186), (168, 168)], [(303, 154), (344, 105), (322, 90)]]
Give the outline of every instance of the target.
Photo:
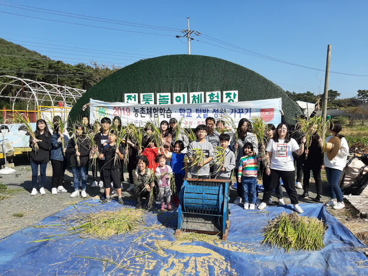
[(270, 181), (265, 183), (262, 202), (258, 206), (259, 210), (266, 208), (266, 202), (270, 199), (272, 191), (281, 177), (290, 201), (294, 204), (294, 210), (299, 214), (303, 213), (298, 204), (298, 195), (294, 184), (295, 168), (292, 153), (301, 155), (304, 152), (304, 143), (305, 137), (302, 137), (300, 146), (294, 139), (290, 138), (286, 124), (280, 123), (277, 126), (273, 138), (266, 147), (267, 161), (270, 164), (266, 166), (266, 174), (270, 176)]

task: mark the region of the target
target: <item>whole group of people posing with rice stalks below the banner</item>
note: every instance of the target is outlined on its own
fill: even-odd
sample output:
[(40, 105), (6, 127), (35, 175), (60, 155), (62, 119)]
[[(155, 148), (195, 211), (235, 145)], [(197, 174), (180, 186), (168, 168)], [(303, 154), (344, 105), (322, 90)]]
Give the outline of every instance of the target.
[[(317, 109), (315, 110), (315, 112)], [(315, 115), (315, 112), (311, 116)], [(118, 195), (118, 202), (123, 204), (121, 197), (121, 183), (124, 181), (124, 166), (129, 172), (131, 186), (127, 189), (137, 199), (137, 207), (142, 207), (142, 198), (149, 199), (151, 190), (161, 203), (161, 210), (171, 210), (171, 204), (178, 205), (178, 193), (183, 179), (188, 178), (213, 178), (231, 181), (232, 175), (236, 175), (237, 198), (234, 203), (242, 203), (243, 209), (255, 209), (258, 196), (257, 177), (262, 175), (264, 186), (263, 198), (258, 209), (266, 208), (275, 190), (279, 204), (284, 204), (283, 186), (290, 197), (294, 210), (302, 213), (298, 205), (298, 198), (309, 197), (310, 171), (313, 171), (317, 186), (316, 201), (321, 201), (322, 181), (321, 168), (326, 168), (327, 180), (331, 186), (331, 201), (326, 203), (335, 209), (344, 208), (342, 193), (338, 186), (339, 176), (346, 164), (348, 154), (347, 142), (342, 135), (341, 124), (338, 121), (331, 122), (329, 131), (332, 134), (326, 139), (328, 142), (335, 136), (341, 141), (337, 155), (330, 160), (324, 155), (323, 140), (317, 132), (311, 137), (310, 148), (304, 149), (305, 137), (301, 137), (297, 126), (289, 125), (281, 110), (282, 122), (275, 127), (268, 124), (264, 136), (264, 150), (266, 156), (262, 160), (259, 155), (261, 145), (254, 133), (252, 123), (246, 118), (240, 119), (236, 133), (234, 133), (222, 120), (212, 117), (206, 118), (206, 124), (198, 125), (195, 129), (196, 141), (189, 141), (189, 137), (177, 125), (175, 118), (161, 121), (159, 131), (161, 133), (160, 149), (157, 140), (153, 139), (153, 125), (148, 123), (144, 128), (144, 137), (141, 147), (134, 137), (125, 139), (124, 143), (117, 146), (117, 129), (121, 129), (119, 117), (111, 119), (105, 117), (94, 126), (88, 124), (88, 118), (83, 118), (82, 123), (75, 125), (75, 135), (69, 139), (68, 133), (61, 133), (57, 120), (53, 124), (53, 134), (49, 132), (44, 120), (37, 121), (35, 131), (36, 139), (30, 139), (32, 147), (32, 192), (37, 193), (38, 166), (40, 166), (40, 189), (44, 194), (44, 182), (46, 164), (51, 160), (52, 165), (52, 189), (51, 193), (66, 192), (63, 186), (64, 172), (68, 160), (72, 167), (75, 191), (72, 197), (80, 194), (86, 197), (86, 182), (88, 167), (91, 164), (93, 183), (92, 187), (104, 187), (104, 196), (101, 202), (111, 201), (111, 196)], [(111, 125), (114, 127), (111, 128)], [(98, 129), (94, 134), (94, 143), (90, 136), (86, 135), (86, 128)], [(64, 141), (64, 147), (63, 143)], [(35, 145), (37, 144), (37, 147)], [(91, 146), (94, 145), (94, 146)], [(222, 149), (222, 154), (215, 154)], [(308, 158), (306, 158), (308, 155)], [(93, 157), (98, 157), (97, 162), (91, 162)], [(221, 156), (221, 161), (219, 159)], [(122, 162), (127, 159), (128, 161)], [(303, 194), (297, 195), (295, 187), (295, 168), (301, 164), (303, 178)], [(237, 173), (236, 173), (237, 170)], [(97, 181), (97, 172), (100, 179)], [(153, 175), (154, 174), (154, 175)], [(171, 185), (174, 179), (174, 191)], [(298, 180), (298, 179), (297, 179)], [(299, 180), (301, 181), (301, 179)], [(297, 182), (299, 182), (297, 181)], [(156, 188), (155, 188), (156, 187)], [(272, 200), (271, 200), (272, 201)]]

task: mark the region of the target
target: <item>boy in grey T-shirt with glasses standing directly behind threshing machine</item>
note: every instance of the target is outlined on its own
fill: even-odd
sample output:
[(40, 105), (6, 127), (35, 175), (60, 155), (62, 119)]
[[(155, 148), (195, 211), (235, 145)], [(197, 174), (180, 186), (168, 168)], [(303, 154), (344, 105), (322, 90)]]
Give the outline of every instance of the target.
[[(194, 160), (194, 149), (201, 149), (204, 154), (204, 159), (200, 164), (191, 166), (192, 178), (210, 178), (210, 162), (213, 157), (213, 146), (210, 142), (206, 141), (206, 125), (200, 124), (196, 127), (197, 141), (193, 141), (188, 146), (187, 157), (190, 162)], [(186, 176), (187, 178), (187, 176)]]

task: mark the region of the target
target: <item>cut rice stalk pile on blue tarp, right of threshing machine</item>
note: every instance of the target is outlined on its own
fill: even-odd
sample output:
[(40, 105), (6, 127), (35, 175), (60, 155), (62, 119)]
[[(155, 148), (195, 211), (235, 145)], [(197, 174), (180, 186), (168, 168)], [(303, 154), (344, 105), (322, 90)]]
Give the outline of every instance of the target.
[(294, 250), (320, 250), (324, 247), (323, 234), (326, 228), (322, 220), (311, 217), (301, 217), (296, 213), (282, 212), (266, 226), (263, 243), (288, 252)]

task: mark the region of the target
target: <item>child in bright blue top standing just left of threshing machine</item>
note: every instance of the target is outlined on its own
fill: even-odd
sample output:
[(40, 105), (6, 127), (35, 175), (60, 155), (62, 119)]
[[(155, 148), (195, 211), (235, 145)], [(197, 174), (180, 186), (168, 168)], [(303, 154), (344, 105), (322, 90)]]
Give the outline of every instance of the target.
[(172, 171), (174, 172), (175, 176), (175, 195), (173, 196), (173, 202), (175, 206), (179, 205), (179, 191), (181, 190), (182, 183), (184, 176), (187, 174), (187, 166), (184, 164), (186, 161), (184, 161), (185, 154), (181, 153), (181, 151), (184, 149), (184, 143), (180, 140), (176, 141), (174, 143), (174, 152), (173, 153), (165, 153), (165, 157), (170, 160), (170, 167), (172, 168)]

